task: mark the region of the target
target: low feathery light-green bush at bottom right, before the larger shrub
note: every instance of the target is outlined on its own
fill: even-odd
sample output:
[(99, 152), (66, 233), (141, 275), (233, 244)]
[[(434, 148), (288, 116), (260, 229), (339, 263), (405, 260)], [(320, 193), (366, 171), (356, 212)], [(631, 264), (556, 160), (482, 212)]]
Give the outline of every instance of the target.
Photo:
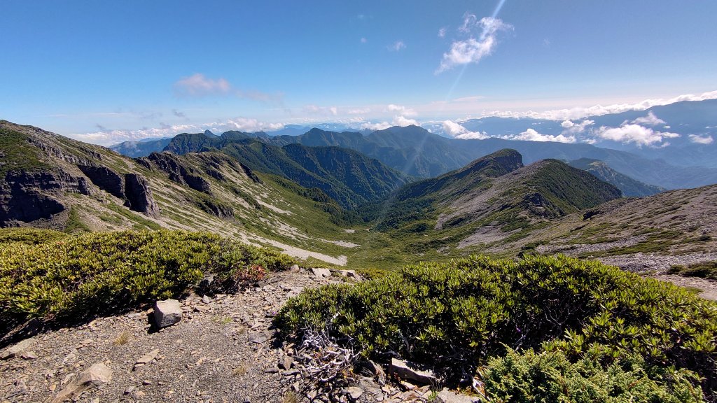
[(657, 369), (647, 374), (636, 355), (602, 366), (594, 359), (571, 363), (561, 352), (508, 351), (481, 371), (491, 402), (702, 402), (689, 371)]

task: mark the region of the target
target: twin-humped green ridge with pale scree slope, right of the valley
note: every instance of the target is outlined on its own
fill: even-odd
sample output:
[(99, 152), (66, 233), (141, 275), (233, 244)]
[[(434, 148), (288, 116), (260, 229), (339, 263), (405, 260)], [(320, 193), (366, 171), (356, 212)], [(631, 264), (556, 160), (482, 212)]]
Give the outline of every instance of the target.
[(493, 237), (507, 237), (541, 220), (621, 196), (615, 186), (587, 171), (554, 159), (523, 166), (518, 151), (504, 149), (462, 169), (402, 187), (390, 199), (384, 217), (376, 217), (376, 227), (408, 232), (434, 229), (439, 231), (435, 237), (461, 227), (457, 233), (465, 232), (466, 239), (474, 227), (490, 228), (496, 233)]

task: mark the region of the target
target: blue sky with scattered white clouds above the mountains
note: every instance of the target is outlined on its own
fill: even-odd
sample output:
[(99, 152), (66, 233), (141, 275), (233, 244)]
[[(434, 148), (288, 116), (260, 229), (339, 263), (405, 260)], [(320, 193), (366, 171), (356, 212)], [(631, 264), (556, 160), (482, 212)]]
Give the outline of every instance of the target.
[(0, 118), (109, 144), (668, 100), (717, 90), (715, 15), (717, 1), (6, 0)]

